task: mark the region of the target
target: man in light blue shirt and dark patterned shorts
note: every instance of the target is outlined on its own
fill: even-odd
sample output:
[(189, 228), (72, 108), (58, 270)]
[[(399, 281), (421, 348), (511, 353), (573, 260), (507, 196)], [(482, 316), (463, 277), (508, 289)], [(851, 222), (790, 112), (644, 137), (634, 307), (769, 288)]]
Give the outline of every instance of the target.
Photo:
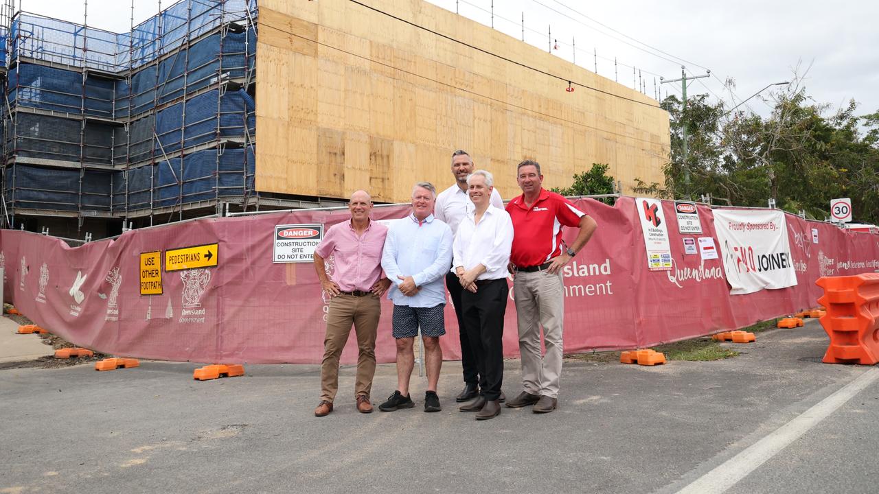
[(385, 238), (381, 268), (389, 280), (389, 298), (394, 302), (393, 334), (396, 339), (397, 389), (388, 401), (379, 405), (381, 411), (412, 408), (409, 379), (415, 367), (412, 350), (418, 328), (425, 342), (427, 392), (425, 411), (439, 411), (437, 382), (442, 366), (439, 337), (446, 334), (443, 310), (446, 286), (443, 283), (452, 264), (452, 229), (433, 217), (436, 188), (419, 182), (412, 189), (412, 212), (394, 222)]

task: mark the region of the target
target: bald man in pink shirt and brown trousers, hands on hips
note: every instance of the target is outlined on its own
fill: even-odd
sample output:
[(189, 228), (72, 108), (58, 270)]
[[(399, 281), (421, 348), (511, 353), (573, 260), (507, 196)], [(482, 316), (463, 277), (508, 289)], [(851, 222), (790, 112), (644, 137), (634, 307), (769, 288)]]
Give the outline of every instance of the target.
[[(375, 374), (375, 332), (381, 316), (381, 295), (390, 280), (381, 272), (381, 249), (388, 227), (373, 222), (372, 198), (366, 191), (352, 193), (348, 202), (351, 221), (335, 224), (315, 249), (315, 270), (323, 291), (332, 299), (327, 312), (327, 334), (323, 340), (321, 365), (321, 403), (316, 417), (329, 415), (338, 391), (338, 359), (351, 333), (357, 334), (359, 350), (354, 396), (360, 413), (373, 411), (369, 392)], [(332, 277), (326, 272), (324, 259), (333, 256)]]

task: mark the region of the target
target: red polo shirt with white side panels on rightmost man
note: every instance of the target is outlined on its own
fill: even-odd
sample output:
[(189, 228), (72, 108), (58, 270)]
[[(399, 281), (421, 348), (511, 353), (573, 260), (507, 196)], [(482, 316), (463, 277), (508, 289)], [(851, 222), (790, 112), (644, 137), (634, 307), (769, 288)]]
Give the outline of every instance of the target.
[(541, 265), (562, 255), (562, 227), (577, 227), (585, 214), (557, 193), (541, 188), (541, 195), (529, 208), (524, 194), (506, 205), (512, 218), (510, 261), (520, 267)]

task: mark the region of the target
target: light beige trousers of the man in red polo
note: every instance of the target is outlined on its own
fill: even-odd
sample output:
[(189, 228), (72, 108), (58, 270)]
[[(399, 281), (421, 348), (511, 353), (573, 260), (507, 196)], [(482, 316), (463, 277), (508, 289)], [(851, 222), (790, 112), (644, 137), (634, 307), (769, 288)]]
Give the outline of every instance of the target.
[[(558, 397), (562, 374), (564, 283), (562, 273), (516, 272), (512, 282), (519, 323), (522, 387), (532, 395)], [(541, 356), (541, 326), (546, 354)]]

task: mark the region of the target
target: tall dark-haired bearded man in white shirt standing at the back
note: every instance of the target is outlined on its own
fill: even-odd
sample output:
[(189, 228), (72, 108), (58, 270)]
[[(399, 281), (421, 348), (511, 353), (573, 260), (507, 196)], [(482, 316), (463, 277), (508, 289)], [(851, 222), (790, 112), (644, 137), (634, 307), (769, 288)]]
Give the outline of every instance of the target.
[[(473, 209), (473, 203), (467, 194), (467, 177), (473, 173), (473, 159), (470, 158), (467, 151), (458, 149), (452, 153), (452, 175), (454, 175), (454, 185), (439, 193), (437, 196), (437, 204), (433, 214), (438, 220), (446, 222), (452, 229), (452, 235), (458, 231), (458, 225), (467, 215), (470, 209)], [(504, 201), (500, 198), (500, 193), (494, 187), (491, 187), (490, 204), (493, 207), (504, 208)], [(464, 323), (461, 316), (461, 284), (454, 272), (448, 272), (446, 275), (446, 287), (452, 298), (454, 305), (454, 314), (458, 319), (458, 333), (461, 337), (461, 367), (464, 373), (464, 389), (455, 397), (458, 402), (466, 402), (476, 397), (479, 393), (479, 369), (476, 366), (476, 358), (470, 350), (470, 342), (467, 332), (464, 331)], [(501, 394), (503, 396), (503, 393)], [(503, 401), (503, 399), (501, 400)]]

